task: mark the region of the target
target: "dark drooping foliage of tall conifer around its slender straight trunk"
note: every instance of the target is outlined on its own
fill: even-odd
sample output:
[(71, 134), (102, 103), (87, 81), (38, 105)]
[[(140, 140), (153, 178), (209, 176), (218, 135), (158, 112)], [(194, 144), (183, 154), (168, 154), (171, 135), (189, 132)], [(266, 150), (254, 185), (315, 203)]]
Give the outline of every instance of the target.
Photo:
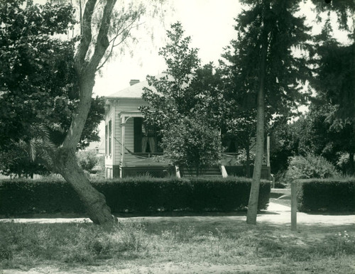
[[(272, 115), (290, 116), (290, 109), (296, 110), (297, 104), (306, 102), (307, 93), (301, 93), (300, 82), (308, 78), (305, 56), (295, 57), (294, 47), (309, 50), (307, 34), (310, 28), (305, 26), (305, 18), (293, 15), (298, 2), (243, 1), (248, 9), (236, 18), (238, 39), (231, 40), (222, 57), (224, 74), (229, 79), (225, 96), (234, 100), (236, 111), (251, 111), (240, 116), (256, 119), (256, 94), (260, 77), (261, 26), (268, 33), (266, 56), (266, 117)], [(270, 5), (270, 6), (268, 6)], [(268, 6), (268, 7), (266, 7)], [(248, 119), (252, 121), (252, 119)]]

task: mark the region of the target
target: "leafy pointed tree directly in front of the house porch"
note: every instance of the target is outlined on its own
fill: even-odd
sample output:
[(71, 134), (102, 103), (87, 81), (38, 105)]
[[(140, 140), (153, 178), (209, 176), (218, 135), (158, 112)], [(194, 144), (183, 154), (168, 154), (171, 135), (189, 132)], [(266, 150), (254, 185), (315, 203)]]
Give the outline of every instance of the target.
[(220, 158), (219, 74), (212, 64), (200, 67), (197, 49), (190, 48), (191, 38), (184, 37), (181, 23), (171, 28), (168, 44), (159, 51), (168, 72), (147, 77), (150, 88), (144, 88), (142, 97), (149, 105), (140, 110), (149, 124), (161, 128), (169, 160), (200, 175)]

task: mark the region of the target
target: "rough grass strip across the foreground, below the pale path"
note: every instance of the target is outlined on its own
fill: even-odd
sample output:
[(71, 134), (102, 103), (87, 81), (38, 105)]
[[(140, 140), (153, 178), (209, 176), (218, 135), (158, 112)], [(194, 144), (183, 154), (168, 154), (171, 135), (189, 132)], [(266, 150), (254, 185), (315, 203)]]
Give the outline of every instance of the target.
[[(0, 269), (45, 273), (354, 273), (354, 226), (244, 221), (0, 223)], [(0, 271), (1, 272), (1, 271)]]

